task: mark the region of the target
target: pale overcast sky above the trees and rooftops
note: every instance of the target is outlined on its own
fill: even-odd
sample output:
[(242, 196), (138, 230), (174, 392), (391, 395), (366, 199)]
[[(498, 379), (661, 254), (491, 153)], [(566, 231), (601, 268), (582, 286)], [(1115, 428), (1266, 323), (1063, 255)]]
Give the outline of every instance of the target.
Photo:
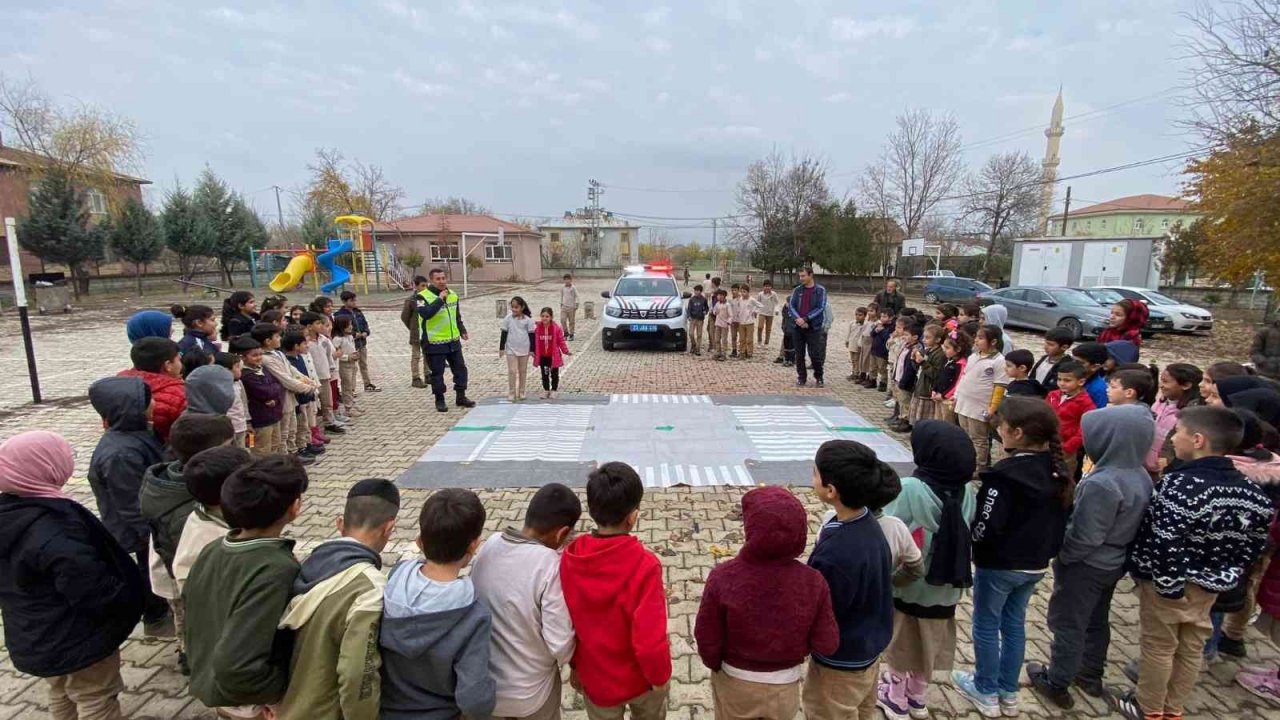
[[(1193, 145), (1175, 0), (13, 3), (0, 70), (133, 118), (156, 196), (209, 164), (273, 218), (269, 186), (301, 187), (319, 146), (411, 204), (549, 217), (596, 178), (620, 213), (727, 215), (771, 147), (826, 159), (844, 195), (906, 108), (954, 114), (970, 165), (1039, 159), (1060, 83), (1060, 174)], [(1175, 193), (1179, 167), (1073, 181), (1073, 206)]]

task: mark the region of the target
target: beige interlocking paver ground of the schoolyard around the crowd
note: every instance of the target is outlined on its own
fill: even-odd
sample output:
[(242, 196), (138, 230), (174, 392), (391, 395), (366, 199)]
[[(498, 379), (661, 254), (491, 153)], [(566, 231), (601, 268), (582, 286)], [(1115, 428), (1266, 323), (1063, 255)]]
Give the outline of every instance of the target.
[[(603, 309), (599, 291), (609, 287), (605, 281), (579, 283), (580, 295), (594, 301), (596, 313)], [(471, 332), (466, 346), (471, 370), (470, 393), (475, 397), (499, 397), (507, 392), (506, 364), (497, 356), (498, 328), (494, 316), (495, 299), (522, 295), (535, 310), (557, 305), (557, 283), (498, 288), (497, 295), (483, 295), (472, 288), (472, 299), (463, 301), (463, 316)], [(494, 290), (494, 288), (490, 288)], [(425, 452), (454, 421), (462, 418), (456, 409), (440, 415), (431, 407), (426, 389), (410, 387), (410, 347), (399, 324), (402, 296), (380, 296), (367, 301), (366, 311), (372, 325), (372, 369), (384, 388), (380, 393), (361, 397), (366, 415), (346, 436), (335, 436), (324, 461), (311, 468), (311, 491), (305, 498), (302, 516), (287, 533), (298, 541), (297, 552), (306, 555), (319, 542), (335, 534), (334, 518), (342, 511), (343, 498), (352, 482), (365, 477), (394, 478)], [(708, 356), (691, 357), (676, 352), (620, 350), (604, 352), (599, 343), (599, 322), (579, 318), (577, 338), (571, 343), (575, 355), (563, 373), (566, 393), (826, 393), (873, 421), (887, 410), (883, 396), (855, 388), (844, 379), (847, 355), (842, 347), (844, 325), (852, 309), (869, 300), (865, 296), (833, 296), (837, 328), (828, 350), (827, 388), (796, 388), (795, 374), (772, 363), (778, 348), (774, 332), (771, 346), (759, 347), (753, 360), (712, 361)], [(157, 306), (166, 306), (156, 302)], [(36, 318), (36, 343), (42, 384), (51, 402), (31, 406), (26, 360), (13, 313), (0, 316), (0, 332), (9, 338), (0, 346), (0, 438), (27, 429), (50, 429), (63, 433), (77, 450), (77, 471), (68, 486), (70, 492), (93, 507), (84, 471), (101, 433), (101, 424), (84, 392), (93, 379), (128, 365), (128, 342), (123, 319), (136, 306), (82, 311), (68, 316)], [(1038, 352), (1039, 340), (1032, 333), (1015, 332), (1019, 347)], [(1187, 357), (1174, 350), (1174, 343), (1156, 338), (1144, 347), (1144, 360), (1165, 364), (1175, 360), (1193, 361), (1202, 366), (1220, 357)], [(1240, 357), (1234, 357), (1239, 360)], [(536, 374), (534, 374), (536, 377)], [(806, 491), (809, 478), (795, 478), (795, 493), (810, 510), (810, 528), (817, 529), (822, 506)], [(530, 489), (485, 489), (480, 497), (489, 511), (488, 529), (518, 525)], [(653, 548), (664, 565), (669, 598), (669, 626), (675, 676), (672, 678), (672, 717), (699, 720), (713, 715), (708, 673), (694, 650), (694, 616), (707, 574), (716, 564), (710, 546), (737, 550), (742, 543), (739, 503), (745, 488), (677, 488), (645, 495), (639, 538)], [(392, 543), (384, 552), (387, 562), (412, 557), (415, 523), (428, 491), (406, 489), (403, 510)], [(813, 536), (810, 533), (810, 543)], [(1048, 580), (1039, 584), (1028, 614), (1028, 659), (1043, 659), (1048, 652), (1044, 611)], [(1121, 665), (1134, 657), (1138, 647), (1137, 600), (1126, 584), (1112, 606), (1112, 648), (1107, 680), (1123, 683)], [(960, 609), (961, 642), (957, 661), (973, 662), (969, 644), (969, 603)], [(1261, 635), (1249, 635), (1249, 662), (1280, 661), (1280, 653)], [(177, 670), (173, 643), (142, 639), (136, 634), (123, 648), (125, 661), (123, 696), (124, 710), (133, 717), (212, 717), (212, 712), (186, 694), (186, 680)], [(1245, 693), (1233, 682), (1236, 662), (1220, 662), (1201, 676), (1199, 687), (1188, 707), (1192, 716), (1217, 717), (1280, 717), (1272, 708)], [(947, 683), (931, 691), (936, 717), (977, 717)], [(1044, 707), (1029, 691), (1023, 692), (1023, 714), (1027, 716), (1107, 715), (1106, 707), (1092, 698), (1078, 696), (1076, 708), (1069, 714)], [(566, 685), (566, 717), (581, 719), (581, 698)], [(13, 669), (8, 653), (0, 650), (0, 720), (9, 717), (46, 717), (45, 687), (41, 682)]]

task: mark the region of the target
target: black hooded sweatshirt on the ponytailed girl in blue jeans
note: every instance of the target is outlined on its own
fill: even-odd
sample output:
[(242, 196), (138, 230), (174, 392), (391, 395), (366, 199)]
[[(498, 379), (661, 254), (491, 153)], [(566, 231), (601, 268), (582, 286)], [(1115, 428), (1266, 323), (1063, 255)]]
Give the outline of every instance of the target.
[(1062, 507), (1048, 452), (1015, 451), (979, 473), (973, 564), (988, 570), (1044, 570), (1062, 547)]

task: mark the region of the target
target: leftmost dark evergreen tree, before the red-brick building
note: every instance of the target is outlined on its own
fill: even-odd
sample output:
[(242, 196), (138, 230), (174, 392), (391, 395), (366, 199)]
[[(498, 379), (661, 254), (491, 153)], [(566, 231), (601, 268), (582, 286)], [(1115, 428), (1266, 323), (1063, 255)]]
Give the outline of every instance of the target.
[(65, 172), (50, 168), (32, 188), (18, 238), (45, 263), (67, 265), (76, 297), (88, 292), (88, 264), (102, 259), (104, 234), (90, 227), (83, 193)]

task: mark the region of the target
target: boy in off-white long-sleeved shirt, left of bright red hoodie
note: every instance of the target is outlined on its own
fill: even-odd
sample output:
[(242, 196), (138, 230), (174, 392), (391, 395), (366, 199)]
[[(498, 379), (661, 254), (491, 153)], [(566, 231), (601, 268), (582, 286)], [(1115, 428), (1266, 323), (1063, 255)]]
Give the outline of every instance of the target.
[(493, 611), (489, 667), (498, 685), (494, 717), (559, 717), (559, 666), (575, 634), (559, 580), (559, 550), (582, 515), (573, 491), (543, 486), (525, 527), (489, 536), (471, 561), (476, 598)]

